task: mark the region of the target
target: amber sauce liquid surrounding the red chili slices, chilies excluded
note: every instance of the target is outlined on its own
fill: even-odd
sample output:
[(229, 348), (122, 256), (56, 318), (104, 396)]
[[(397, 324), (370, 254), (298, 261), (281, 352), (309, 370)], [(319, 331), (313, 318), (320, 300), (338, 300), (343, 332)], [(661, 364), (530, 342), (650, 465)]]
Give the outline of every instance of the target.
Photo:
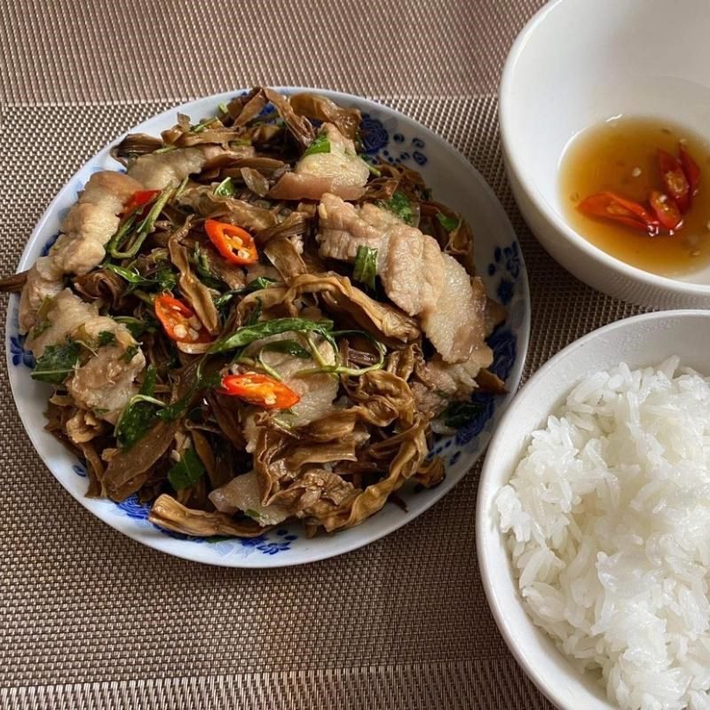
[[(647, 201), (651, 189), (662, 189), (657, 149), (675, 155), (681, 140), (698, 163), (701, 177), (678, 233), (649, 237), (577, 209), (580, 201), (605, 190)], [(621, 117), (585, 130), (564, 152), (560, 187), (568, 224), (607, 254), (664, 276), (686, 275), (710, 264), (710, 144), (682, 126)]]

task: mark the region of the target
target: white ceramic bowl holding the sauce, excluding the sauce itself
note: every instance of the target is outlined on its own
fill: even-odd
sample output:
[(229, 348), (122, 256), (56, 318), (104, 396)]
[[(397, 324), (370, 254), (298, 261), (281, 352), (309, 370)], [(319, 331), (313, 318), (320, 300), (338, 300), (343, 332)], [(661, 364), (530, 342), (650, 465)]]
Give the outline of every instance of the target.
[(707, 0), (554, 0), (518, 36), (501, 81), (501, 140), (525, 221), (550, 255), (604, 293), (657, 308), (710, 306), (710, 267), (685, 280), (604, 253), (565, 223), (558, 185), (570, 140), (618, 114), (710, 131)]

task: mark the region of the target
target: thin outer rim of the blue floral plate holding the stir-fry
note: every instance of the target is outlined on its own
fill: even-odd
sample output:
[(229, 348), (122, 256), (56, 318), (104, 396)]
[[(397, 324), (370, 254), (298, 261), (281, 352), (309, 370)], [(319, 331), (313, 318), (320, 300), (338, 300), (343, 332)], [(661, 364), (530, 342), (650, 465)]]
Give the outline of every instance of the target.
[[(509, 406), (510, 402), (512, 401), (515, 392), (517, 391), (517, 388), (520, 385), (520, 382), (522, 380), (523, 372), (525, 369), (525, 360), (527, 358), (528, 350), (529, 350), (529, 344), (530, 344), (530, 333), (532, 329), (532, 302), (530, 298), (530, 288), (529, 288), (529, 280), (527, 276), (527, 269), (525, 265), (525, 256), (522, 253), (522, 249), (520, 248), (520, 241), (519, 237), (516, 233), (516, 230), (514, 226), (512, 225), (512, 222), (510, 221), (510, 217), (507, 213), (507, 211), (503, 208), (501, 201), (498, 199), (497, 195), (493, 192), (493, 188), (491, 185), (487, 183), (485, 180), (485, 177), (481, 175), (481, 173), (477, 170), (477, 168), (474, 166), (472, 162), (470, 162), (463, 154), (461, 154), (461, 151), (459, 151), (456, 147), (454, 147), (449, 141), (446, 140), (446, 138), (443, 138), (440, 136), (438, 133), (435, 131), (431, 130), (427, 126), (423, 125), (421, 122), (417, 121), (414, 119), (412, 116), (403, 113), (402, 111), (399, 111), (397, 108), (394, 108), (392, 106), (387, 106), (385, 104), (379, 103), (373, 99), (367, 99), (366, 97), (359, 96), (358, 94), (351, 94), (345, 91), (334, 91), (331, 89), (324, 89), (322, 87), (309, 87), (309, 86), (274, 86), (272, 87), (274, 91), (279, 91), (280, 93), (295, 93), (299, 91), (312, 91), (312, 92), (318, 92), (330, 99), (338, 100), (338, 99), (343, 99), (345, 101), (350, 101), (350, 102), (355, 102), (357, 105), (364, 110), (372, 110), (379, 112), (381, 114), (390, 114), (393, 116), (398, 117), (398, 119), (403, 120), (405, 122), (409, 122), (413, 124), (418, 131), (421, 132), (421, 135), (424, 138), (427, 138), (431, 140), (435, 145), (441, 146), (442, 149), (446, 149), (446, 155), (449, 157), (450, 160), (454, 160), (455, 162), (458, 162), (461, 164), (461, 166), (465, 167), (466, 170), (469, 170), (471, 174), (471, 183), (472, 185), (475, 185), (475, 189), (483, 194), (485, 196), (486, 201), (491, 201), (495, 207), (496, 210), (500, 213), (501, 216), (501, 229), (508, 234), (512, 239), (514, 239), (517, 244), (518, 244), (518, 251), (519, 251), (519, 257), (520, 257), (520, 264), (521, 264), (521, 269), (520, 273), (518, 276), (518, 284), (521, 289), (521, 293), (524, 296), (524, 301), (525, 301), (525, 315), (523, 317), (523, 321), (520, 324), (519, 327), (516, 327), (516, 338), (517, 338), (517, 343), (519, 347), (519, 351), (517, 351), (517, 358), (515, 361), (515, 364), (513, 368), (511, 369), (510, 372), (510, 392), (508, 395), (506, 395), (504, 398), (501, 398), (500, 402), (496, 404), (496, 412), (493, 414), (493, 417), (495, 418), (496, 421), (496, 426), (497, 422), (501, 421), (502, 414), (504, 414), (505, 410)], [(86, 167), (91, 164), (92, 162), (95, 162), (99, 160), (102, 156), (108, 154), (110, 151), (111, 146), (114, 146), (115, 143), (120, 141), (125, 135), (127, 135), (128, 132), (130, 131), (135, 131), (141, 129), (147, 122), (154, 122), (156, 120), (160, 119), (165, 119), (169, 118), (170, 116), (174, 115), (177, 111), (195, 111), (195, 110), (200, 110), (200, 105), (201, 103), (205, 101), (209, 102), (214, 102), (217, 104), (219, 101), (226, 101), (228, 99), (232, 99), (234, 96), (238, 95), (241, 91), (248, 91), (241, 88), (241, 87), (236, 87), (232, 90), (228, 91), (220, 91), (217, 93), (212, 93), (212, 94), (207, 94), (205, 96), (198, 97), (196, 99), (190, 99), (188, 101), (181, 101), (180, 99), (177, 99), (177, 103), (174, 106), (170, 106), (169, 108), (165, 109), (164, 111), (160, 111), (155, 114), (149, 115), (145, 120), (140, 121), (134, 125), (131, 125), (128, 131), (124, 131), (118, 136), (112, 138), (109, 140), (108, 143), (106, 143), (105, 146), (101, 147), (99, 151), (97, 151), (95, 154), (92, 154), (85, 162), (83, 162), (82, 165), (80, 165), (74, 173), (67, 178), (67, 181), (59, 187), (59, 191), (55, 194), (55, 196), (52, 198), (52, 200), (49, 202), (47, 205), (46, 209), (44, 209), (43, 214), (39, 219), (36, 221), (36, 224), (32, 230), (32, 233), (30, 233), (30, 236), (28, 237), (28, 240), (25, 243), (25, 247), (22, 250), (22, 254), (20, 256), (20, 260), (18, 262), (18, 269), (20, 269), (23, 266), (26, 266), (25, 262), (28, 260), (31, 249), (36, 241), (37, 235), (42, 232), (44, 225), (47, 223), (47, 221), (51, 218), (51, 215), (56, 212), (58, 205), (61, 201), (62, 196), (64, 193), (66, 193), (67, 190), (70, 189), (71, 185), (73, 184), (73, 181), (75, 180), (75, 177), (82, 173)], [(12, 332), (12, 314), (13, 314), (13, 308), (12, 308), (12, 301), (9, 302), (8, 307), (6, 309), (6, 314), (5, 314), (5, 329), (6, 333)], [(41, 454), (40, 452), (43, 449), (43, 446), (37, 436), (37, 428), (34, 426), (28, 425), (27, 422), (29, 422), (29, 413), (27, 410), (27, 405), (25, 403), (26, 398), (21, 394), (20, 390), (17, 389), (17, 384), (16, 384), (16, 378), (14, 375), (14, 368), (11, 367), (11, 362), (12, 362), (12, 353), (11, 353), (11, 348), (10, 348), (10, 339), (5, 336), (5, 359), (6, 359), (6, 367), (8, 368), (8, 379), (10, 381), (10, 387), (12, 391), (12, 398), (14, 400), (15, 406), (17, 408), (18, 414), (20, 415), (20, 422), (22, 423), (23, 429), (27, 432), (28, 438), (30, 439), (30, 442), (33, 446), (33, 448), (36, 451), (36, 454), (39, 456), (39, 458), (43, 461), (44, 466), (49, 469), (49, 472), (51, 473), (51, 476), (54, 477), (59, 485), (72, 497), (77, 501), (82, 507), (93, 516), (99, 519), (101, 523), (104, 525), (108, 525), (109, 527), (113, 528), (116, 532), (122, 533), (123, 535), (126, 535), (129, 537), (131, 540), (135, 540), (138, 543), (146, 546), (147, 548), (152, 548), (155, 549), (159, 552), (162, 552), (163, 554), (169, 555), (169, 556), (174, 556), (174, 557), (179, 557), (185, 560), (189, 560), (192, 562), (198, 562), (201, 564), (209, 564), (209, 565), (214, 565), (214, 566), (224, 566), (224, 567), (233, 567), (233, 568), (247, 568), (247, 569), (265, 569), (265, 568), (274, 568), (274, 567), (288, 567), (288, 566), (296, 566), (300, 564), (312, 564), (315, 562), (319, 562), (321, 560), (329, 559), (335, 556), (341, 556), (343, 554), (346, 554), (348, 552), (351, 552), (355, 549), (359, 548), (364, 548), (370, 545), (371, 543), (375, 542), (376, 540), (380, 540), (383, 537), (386, 537), (387, 535), (390, 535), (391, 533), (394, 533), (397, 531), (399, 528), (404, 527), (405, 525), (409, 525), (414, 521), (416, 517), (421, 516), (423, 513), (425, 513), (428, 509), (436, 505), (439, 501), (442, 500), (446, 496), (447, 493), (451, 492), (451, 489), (455, 487), (458, 483), (461, 482), (462, 478), (467, 475), (467, 473), (464, 471), (460, 477), (457, 478), (457, 480), (454, 482), (453, 485), (450, 487), (444, 487), (442, 486), (443, 493), (437, 496), (432, 496), (430, 501), (426, 501), (426, 504), (422, 506), (422, 509), (419, 509), (415, 511), (414, 513), (409, 513), (405, 517), (403, 517), (401, 522), (398, 522), (397, 524), (394, 525), (386, 525), (382, 531), (377, 531), (375, 533), (368, 533), (365, 535), (359, 535), (355, 540), (350, 540), (348, 542), (343, 542), (341, 543), (341, 547), (337, 548), (337, 550), (333, 551), (330, 550), (327, 547), (324, 547), (322, 549), (318, 549), (316, 551), (311, 552), (307, 558), (303, 559), (292, 559), (291, 557), (288, 556), (270, 556), (266, 555), (262, 557), (254, 557), (252, 559), (249, 557), (249, 562), (248, 564), (244, 564), (244, 560), (241, 560), (241, 558), (232, 558), (232, 557), (218, 557), (218, 556), (210, 556), (209, 559), (205, 559), (204, 556), (201, 555), (201, 552), (199, 550), (199, 546), (187, 546), (187, 545), (181, 545), (179, 548), (172, 548), (172, 549), (166, 549), (160, 544), (160, 541), (162, 540), (159, 539), (159, 541), (156, 542), (154, 538), (150, 536), (145, 536), (144, 534), (140, 533), (137, 528), (133, 527), (132, 525), (128, 525), (123, 521), (122, 517), (106, 517), (104, 515), (99, 515), (99, 513), (92, 509), (90, 504), (89, 504), (89, 499), (86, 498), (85, 495), (77, 495), (73, 490), (67, 487), (65, 485), (64, 480), (57, 474), (55, 474), (55, 471), (53, 467), (50, 465), (49, 461), (46, 460), (45, 456)], [(484, 432), (481, 432), (481, 436), (484, 436)], [(488, 439), (490, 440), (490, 439)], [(487, 446), (487, 441), (485, 442), (485, 446)], [(470, 465), (472, 466), (475, 461), (478, 461), (481, 459), (483, 454), (485, 453), (485, 446), (483, 446), (476, 454), (473, 454), (473, 458), (470, 461)], [(361, 529), (361, 528), (360, 528)], [(166, 538), (166, 540), (168, 540)], [(165, 540), (162, 540), (165, 542)]]

